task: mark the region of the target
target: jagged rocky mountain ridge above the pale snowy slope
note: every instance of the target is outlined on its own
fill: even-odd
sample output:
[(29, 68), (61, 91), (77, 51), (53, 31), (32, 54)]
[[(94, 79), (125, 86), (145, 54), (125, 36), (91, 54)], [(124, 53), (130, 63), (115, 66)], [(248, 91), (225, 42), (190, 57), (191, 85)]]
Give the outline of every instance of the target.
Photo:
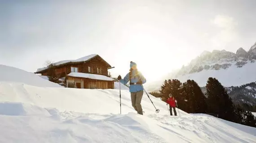
[(256, 61), (256, 43), (246, 51), (242, 47), (238, 48), (236, 53), (226, 50), (204, 50), (199, 56), (192, 59), (188, 66), (183, 66), (174, 77), (200, 72), (209, 69), (219, 70), (229, 68), (235, 63), (237, 67), (243, 67), (245, 64)]

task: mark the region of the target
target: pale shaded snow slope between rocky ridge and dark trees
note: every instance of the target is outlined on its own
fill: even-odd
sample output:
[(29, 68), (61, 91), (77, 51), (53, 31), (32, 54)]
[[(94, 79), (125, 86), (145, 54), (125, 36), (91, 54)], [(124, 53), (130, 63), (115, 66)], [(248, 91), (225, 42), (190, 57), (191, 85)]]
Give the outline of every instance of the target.
[(223, 86), (240, 86), (256, 81), (256, 63), (247, 62), (243, 67), (238, 68), (236, 65), (231, 65), (227, 69), (220, 70), (203, 70), (196, 73), (187, 74), (184, 76), (177, 76), (176, 79), (181, 82), (186, 80), (194, 80), (199, 86), (206, 85), (209, 77), (215, 77), (221, 82)]

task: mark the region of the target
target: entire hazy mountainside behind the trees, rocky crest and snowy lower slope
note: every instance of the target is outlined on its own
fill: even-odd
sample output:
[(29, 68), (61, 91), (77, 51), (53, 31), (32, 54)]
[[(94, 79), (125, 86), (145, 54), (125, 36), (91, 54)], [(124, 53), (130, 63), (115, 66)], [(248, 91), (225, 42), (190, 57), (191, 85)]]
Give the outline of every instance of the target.
[(159, 90), (166, 79), (178, 79), (181, 82), (195, 80), (203, 87), (209, 77), (215, 77), (225, 87), (240, 86), (256, 81), (256, 43), (246, 51), (240, 47), (236, 53), (226, 50), (203, 51), (192, 59), (187, 66), (173, 71), (165, 79), (148, 84), (150, 91)]

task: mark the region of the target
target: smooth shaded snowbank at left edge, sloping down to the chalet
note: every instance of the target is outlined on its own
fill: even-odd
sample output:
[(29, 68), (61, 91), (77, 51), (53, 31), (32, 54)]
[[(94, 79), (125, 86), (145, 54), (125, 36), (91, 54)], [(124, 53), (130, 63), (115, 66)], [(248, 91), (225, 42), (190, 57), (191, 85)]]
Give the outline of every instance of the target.
[(59, 84), (42, 79), (40, 76), (34, 73), (5, 65), (0, 65), (0, 81), (16, 83), (18, 82), (22, 84), (35, 85), (40, 87), (62, 87)]

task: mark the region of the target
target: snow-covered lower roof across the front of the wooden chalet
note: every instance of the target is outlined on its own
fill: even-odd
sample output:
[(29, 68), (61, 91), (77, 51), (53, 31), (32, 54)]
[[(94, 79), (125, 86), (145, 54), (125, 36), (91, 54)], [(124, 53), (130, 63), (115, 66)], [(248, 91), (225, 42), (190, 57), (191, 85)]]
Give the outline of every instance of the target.
[(88, 79), (93, 79), (93, 80), (108, 80), (108, 81), (114, 80), (107, 76), (96, 75), (96, 74), (91, 74), (91, 73), (83, 73), (83, 72), (71, 72), (67, 76), (82, 77), (82, 78), (88, 78)]

